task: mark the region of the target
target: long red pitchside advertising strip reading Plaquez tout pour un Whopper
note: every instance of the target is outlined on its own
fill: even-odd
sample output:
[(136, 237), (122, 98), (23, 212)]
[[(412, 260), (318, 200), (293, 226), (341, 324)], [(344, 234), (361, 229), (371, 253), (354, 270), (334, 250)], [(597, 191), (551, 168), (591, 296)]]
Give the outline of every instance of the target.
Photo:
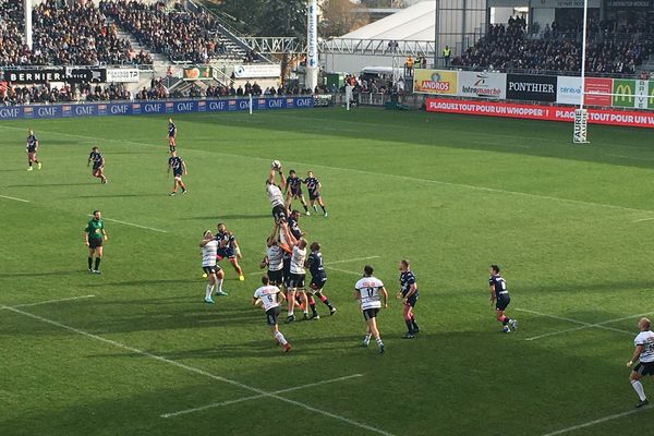
[[(427, 98), (425, 105), (427, 112), (465, 113), (547, 121), (574, 121), (574, 108), (570, 107), (450, 100), (445, 98)], [(654, 129), (654, 113), (589, 109), (589, 123)]]

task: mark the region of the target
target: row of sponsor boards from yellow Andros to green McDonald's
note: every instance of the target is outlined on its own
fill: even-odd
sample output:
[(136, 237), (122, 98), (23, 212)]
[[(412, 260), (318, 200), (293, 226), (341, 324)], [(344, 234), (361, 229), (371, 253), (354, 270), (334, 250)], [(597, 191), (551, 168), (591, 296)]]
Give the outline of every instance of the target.
[[(654, 81), (585, 77), (584, 105), (654, 110)], [(415, 70), (413, 92), (428, 96), (581, 104), (581, 77)]]

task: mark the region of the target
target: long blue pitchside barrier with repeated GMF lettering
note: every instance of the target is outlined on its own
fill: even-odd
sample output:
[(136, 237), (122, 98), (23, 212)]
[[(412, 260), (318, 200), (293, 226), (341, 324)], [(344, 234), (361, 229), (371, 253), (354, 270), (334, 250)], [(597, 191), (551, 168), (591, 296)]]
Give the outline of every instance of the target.
[[(314, 107), (313, 96), (253, 98), (253, 110), (305, 109)], [(85, 102), (0, 107), (0, 120), (44, 118), (203, 113), (250, 110), (250, 99), (155, 100), (138, 102)]]

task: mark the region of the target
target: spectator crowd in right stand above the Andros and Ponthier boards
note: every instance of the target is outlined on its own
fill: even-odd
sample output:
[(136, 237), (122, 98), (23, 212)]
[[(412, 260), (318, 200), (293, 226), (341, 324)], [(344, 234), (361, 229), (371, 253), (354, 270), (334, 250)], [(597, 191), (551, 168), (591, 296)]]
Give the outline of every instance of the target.
[[(600, 23), (597, 23), (597, 26)], [(604, 32), (603, 27), (596, 27)], [(608, 32), (608, 28), (605, 27)], [(611, 27), (620, 32), (630, 27)], [(639, 27), (643, 31), (645, 27)], [(529, 38), (526, 22), (510, 19), (507, 25), (491, 25), (487, 34), (461, 57), (451, 62), (457, 66), (488, 70), (524, 70), (532, 73), (546, 71), (579, 72), (581, 70), (581, 38), (573, 28), (564, 32), (556, 23), (547, 26), (543, 37)], [(614, 32), (614, 31), (610, 31)], [(608, 36), (611, 37), (608, 37)], [(606, 34), (586, 47), (586, 72), (635, 74), (639, 66), (654, 53), (654, 44), (647, 38), (618, 38)]]

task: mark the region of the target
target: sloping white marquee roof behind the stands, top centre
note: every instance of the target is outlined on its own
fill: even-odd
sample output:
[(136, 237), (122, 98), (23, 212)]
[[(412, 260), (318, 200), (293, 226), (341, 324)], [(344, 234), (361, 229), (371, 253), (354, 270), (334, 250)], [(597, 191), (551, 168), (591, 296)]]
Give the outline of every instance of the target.
[(435, 1), (421, 1), (341, 36), (344, 39), (434, 40)]

